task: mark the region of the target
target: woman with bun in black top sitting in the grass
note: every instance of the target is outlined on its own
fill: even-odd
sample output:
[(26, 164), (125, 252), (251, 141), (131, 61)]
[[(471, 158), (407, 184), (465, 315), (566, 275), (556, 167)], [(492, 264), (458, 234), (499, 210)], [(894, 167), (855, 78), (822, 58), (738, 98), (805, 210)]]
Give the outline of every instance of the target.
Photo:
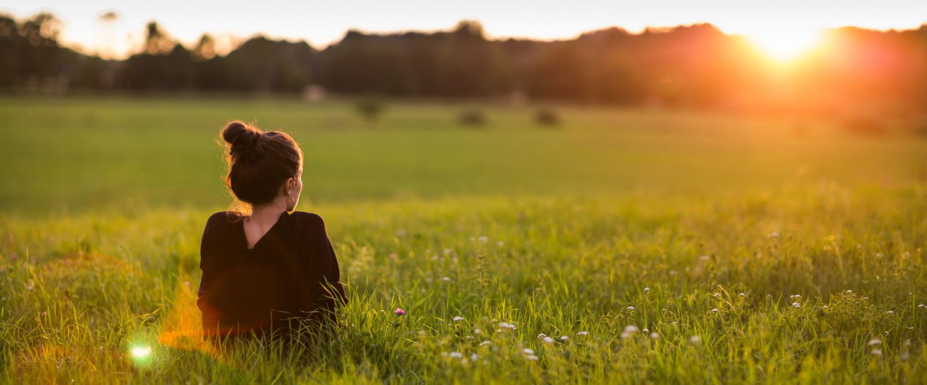
[(215, 213), (203, 230), (197, 306), (205, 336), (282, 336), (307, 320), (334, 321), (346, 297), (322, 217), (289, 213), (302, 191), (298, 144), (240, 121), (222, 139), (226, 185), (250, 214)]

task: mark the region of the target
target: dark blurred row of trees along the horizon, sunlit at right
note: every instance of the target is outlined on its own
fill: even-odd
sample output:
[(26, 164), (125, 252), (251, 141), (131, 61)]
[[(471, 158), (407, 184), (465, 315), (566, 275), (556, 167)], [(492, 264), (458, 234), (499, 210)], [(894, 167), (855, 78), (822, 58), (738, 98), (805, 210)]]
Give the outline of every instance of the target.
[(449, 31), (348, 31), (323, 50), (256, 36), (215, 55), (204, 34), (186, 47), (159, 25), (140, 52), (104, 60), (58, 43), (42, 13), (0, 15), (0, 90), (63, 93), (202, 91), (519, 98), (602, 105), (924, 111), (927, 24), (917, 30), (832, 30), (828, 43), (790, 66), (773, 64), (710, 24), (576, 39), (488, 39), (476, 21)]

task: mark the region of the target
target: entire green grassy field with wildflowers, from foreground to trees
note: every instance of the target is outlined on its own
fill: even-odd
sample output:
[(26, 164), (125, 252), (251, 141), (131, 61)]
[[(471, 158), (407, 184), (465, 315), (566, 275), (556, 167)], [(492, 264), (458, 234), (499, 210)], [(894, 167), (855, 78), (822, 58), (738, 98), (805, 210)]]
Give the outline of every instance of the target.
[[(927, 379), (927, 141), (569, 106), (467, 128), (465, 107), (0, 99), (0, 381)], [(298, 209), (349, 291), (324, 344), (197, 342), (231, 118), (306, 154)]]

